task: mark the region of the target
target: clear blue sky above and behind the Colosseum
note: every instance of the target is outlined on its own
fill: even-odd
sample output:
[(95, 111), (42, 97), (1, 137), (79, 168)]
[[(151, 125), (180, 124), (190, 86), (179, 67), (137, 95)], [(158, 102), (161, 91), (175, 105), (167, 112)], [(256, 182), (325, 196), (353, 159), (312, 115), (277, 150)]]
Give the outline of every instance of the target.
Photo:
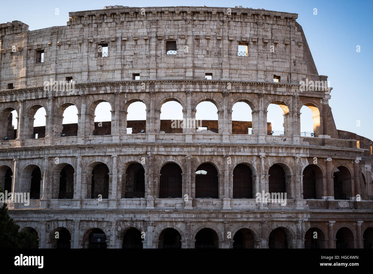
[[(0, 23), (22, 21), (30, 30), (64, 26), (69, 20), (68, 12), (102, 9), (104, 6), (134, 6), (128, 1), (3, 1), (0, 9)], [(370, 79), (372, 78), (372, 10), (373, 1), (280, 1), (252, 0), (240, 2), (227, 1), (142, 1), (135, 6), (217, 6), (217, 7), (251, 7), (264, 8), (280, 12), (298, 13), (297, 22), (303, 27), (311, 54), (320, 75), (329, 76), (333, 91), (329, 104), (332, 107), (337, 129), (355, 132), (373, 139), (372, 95)], [(59, 14), (56, 15), (56, 8)], [(314, 15), (314, 9), (317, 15)], [(357, 46), (360, 52), (357, 52)], [(277, 107), (277, 106), (275, 106)], [(176, 108), (177, 109), (177, 108)], [(206, 109), (206, 108), (205, 108)], [(273, 122), (274, 130), (283, 130), (281, 112), (269, 110), (268, 122)], [(214, 109), (206, 109), (213, 115)], [(41, 112), (41, 111), (39, 111)], [(171, 111), (172, 112), (172, 111)], [(308, 109), (302, 108), (301, 131), (312, 131)], [(197, 109), (198, 113), (198, 109)], [(248, 111), (238, 107), (233, 119), (247, 120)], [(40, 114), (38, 114), (40, 115)], [(43, 117), (42, 114), (40, 117)], [(98, 113), (96, 113), (97, 116)], [(135, 115), (136, 116), (136, 115)], [(177, 117), (166, 117), (172, 119)], [(95, 120), (105, 118), (96, 117)], [(251, 118), (251, 117), (250, 117)], [(250, 118), (248, 120), (250, 120)], [(205, 118), (209, 119), (209, 118)], [(76, 120), (76, 118), (75, 118)], [(35, 120), (35, 126), (37, 126)]]

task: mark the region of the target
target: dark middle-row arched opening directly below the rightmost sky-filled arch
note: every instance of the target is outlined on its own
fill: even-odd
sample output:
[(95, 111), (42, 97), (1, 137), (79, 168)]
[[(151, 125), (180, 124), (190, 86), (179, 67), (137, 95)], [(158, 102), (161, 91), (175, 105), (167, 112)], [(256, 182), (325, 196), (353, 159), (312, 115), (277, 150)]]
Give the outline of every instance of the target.
[(303, 170), (303, 198), (322, 199), (323, 174), (320, 167), (310, 164)]

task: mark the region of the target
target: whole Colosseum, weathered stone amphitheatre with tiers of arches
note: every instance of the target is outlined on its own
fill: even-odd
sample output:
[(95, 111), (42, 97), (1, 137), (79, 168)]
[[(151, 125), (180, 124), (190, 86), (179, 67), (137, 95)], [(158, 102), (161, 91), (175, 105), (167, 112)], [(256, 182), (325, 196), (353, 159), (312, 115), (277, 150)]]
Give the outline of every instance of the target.
[[(373, 143), (336, 128), (297, 14), (106, 6), (69, 17), (0, 24), (1, 186), (39, 248), (372, 248)], [(161, 120), (170, 101), (182, 118)], [(196, 120), (205, 101), (217, 120)], [(103, 102), (111, 120), (95, 121)], [(138, 102), (146, 118), (127, 119)], [(232, 119), (236, 103), (251, 121)], [(77, 122), (63, 123), (71, 106)]]

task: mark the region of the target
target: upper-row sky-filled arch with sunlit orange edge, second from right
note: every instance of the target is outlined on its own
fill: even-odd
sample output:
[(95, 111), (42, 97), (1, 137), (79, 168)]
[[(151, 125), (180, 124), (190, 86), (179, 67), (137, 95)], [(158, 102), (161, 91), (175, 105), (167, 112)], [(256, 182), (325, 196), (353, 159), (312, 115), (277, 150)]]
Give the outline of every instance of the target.
[(290, 126), (289, 108), (282, 102), (269, 104), (267, 107), (267, 135), (290, 135)]

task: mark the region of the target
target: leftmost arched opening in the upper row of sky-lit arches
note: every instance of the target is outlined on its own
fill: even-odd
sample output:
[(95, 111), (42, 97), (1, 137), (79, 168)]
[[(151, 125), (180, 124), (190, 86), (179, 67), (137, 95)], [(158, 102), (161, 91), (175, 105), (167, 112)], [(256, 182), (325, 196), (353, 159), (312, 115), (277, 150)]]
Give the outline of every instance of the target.
[(14, 108), (6, 108), (0, 114), (0, 138), (4, 141), (17, 138), (18, 113)]

